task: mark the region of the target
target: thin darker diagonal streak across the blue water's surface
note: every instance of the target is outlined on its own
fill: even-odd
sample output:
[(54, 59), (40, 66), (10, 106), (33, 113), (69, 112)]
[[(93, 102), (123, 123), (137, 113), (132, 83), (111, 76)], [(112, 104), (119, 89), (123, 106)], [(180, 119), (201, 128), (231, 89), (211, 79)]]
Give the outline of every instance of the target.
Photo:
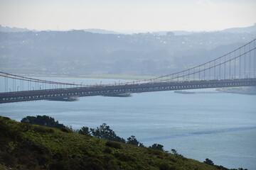
[(139, 141), (140, 142), (150, 142), (150, 141), (154, 141), (154, 140), (168, 140), (168, 139), (174, 139), (174, 138), (180, 138), (180, 137), (193, 137), (193, 136), (198, 136), (198, 135), (209, 135), (209, 134), (225, 133), (225, 132), (238, 132), (238, 131), (244, 131), (244, 130), (256, 130), (256, 126), (248, 126), (248, 127), (240, 127), (240, 128), (225, 128), (225, 129), (220, 129), (220, 130), (206, 130), (206, 131), (189, 132), (189, 133), (176, 134), (176, 135), (148, 137), (148, 138), (139, 139)]

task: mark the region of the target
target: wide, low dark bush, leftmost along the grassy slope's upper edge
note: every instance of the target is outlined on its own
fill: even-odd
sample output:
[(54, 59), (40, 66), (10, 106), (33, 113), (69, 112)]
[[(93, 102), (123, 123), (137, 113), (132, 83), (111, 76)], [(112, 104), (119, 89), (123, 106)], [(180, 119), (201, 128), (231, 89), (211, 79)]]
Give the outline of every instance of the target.
[(55, 121), (54, 118), (49, 117), (48, 115), (37, 115), (27, 116), (21, 120), (21, 123), (31, 123), (35, 125), (43, 125), (51, 128), (65, 128), (65, 125), (58, 123), (58, 120)]

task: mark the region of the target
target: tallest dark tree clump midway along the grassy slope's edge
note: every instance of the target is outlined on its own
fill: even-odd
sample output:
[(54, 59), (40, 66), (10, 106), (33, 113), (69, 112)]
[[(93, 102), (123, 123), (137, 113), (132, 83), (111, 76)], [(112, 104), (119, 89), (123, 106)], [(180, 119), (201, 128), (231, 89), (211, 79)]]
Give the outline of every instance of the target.
[(103, 123), (102, 125), (100, 125), (100, 127), (97, 127), (96, 129), (91, 128), (90, 131), (94, 137), (125, 143), (125, 140), (117, 136), (115, 132), (110, 129), (110, 126), (108, 126), (106, 123)]

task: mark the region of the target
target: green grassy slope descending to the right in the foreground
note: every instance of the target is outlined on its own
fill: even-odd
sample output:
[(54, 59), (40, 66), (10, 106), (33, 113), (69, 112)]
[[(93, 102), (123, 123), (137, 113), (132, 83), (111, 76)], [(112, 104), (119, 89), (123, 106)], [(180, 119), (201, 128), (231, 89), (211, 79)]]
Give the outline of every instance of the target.
[(0, 117), (0, 169), (225, 169), (155, 149)]

